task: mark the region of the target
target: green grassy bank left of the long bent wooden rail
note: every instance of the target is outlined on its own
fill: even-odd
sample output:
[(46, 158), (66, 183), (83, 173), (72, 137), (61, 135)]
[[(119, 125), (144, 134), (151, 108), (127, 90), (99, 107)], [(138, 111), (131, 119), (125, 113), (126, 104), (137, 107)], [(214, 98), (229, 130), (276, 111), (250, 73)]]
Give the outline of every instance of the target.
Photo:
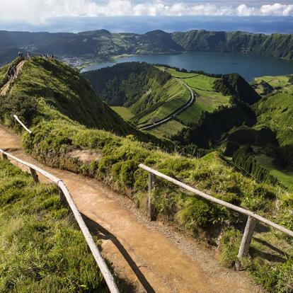
[(108, 292), (57, 188), (8, 161), (0, 161), (0, 243), (0, 292)]

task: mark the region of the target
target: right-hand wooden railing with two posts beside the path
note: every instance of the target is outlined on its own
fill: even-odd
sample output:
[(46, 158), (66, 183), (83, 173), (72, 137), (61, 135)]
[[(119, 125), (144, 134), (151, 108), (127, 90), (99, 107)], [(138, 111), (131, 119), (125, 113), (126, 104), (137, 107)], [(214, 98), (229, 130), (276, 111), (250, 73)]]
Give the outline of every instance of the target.
[(293, 237), (293, 231), (280, 226), (279, 224), (276, 224), (268, 219), (265, 219), (264, 217), (261, 217), (258, 214), (255, 214), (248, 209), (243, 209), (242, 207), (237, 207), (236, 205), (232, 205), (229, 202), (224, 202), (224, 200), (219, 200), (216, 197), (212, 197), (211, 195), (207, 195), (206, 193), (202, 193), (202, 191), (197, 190), (195, 188), (192, 188), (189, 185), (186, 185), (185, 183), (180, 182), (179, 180), (176, 180), (174, 178), (171, 178), (169, 176), (166, 176), (163, 173), (160, 173), (159, 171), (154, 170), (153, 168), (149, 168), (148, 166), (145, 166), (144, 164), (139, 164), (139, 168), (144, 169), (144, 171), (149, 172), (149, 198), (148, 198), (148, 212), (149, 212), (149, 219), (154, 219), (153, 209), (151, 205), (151, 190), (154, 188), (154, 176), (158, 176), (160, 178), (163, 178), (180, 188), (184, 188), (185, 190), (190, 191), (191, 193), (195, 193), (196, 195), (199, 195), (202, 198), (205, 198), (205, 200), (209, 200), (210, 202), (217, 203), (219, 205), (222, 205), (223, 207), (227, 207), (229, 209), (233, 209), (236, 212), (239, 212), (241, 214), (246, 214), (248, 216), (248, 220), (246, 222), (246, 227), (243, 233), (243, 237), (241, 240), (238, 258), (242, 258), (244, 255), (248, 254), (249, 246), (251, 245), (251, 239), (253, 236), (253, 231), (255, 228), (255, 224), (257, 221), (262, 222), (263, 224), (266, 224), (268, 226), (271, 226), (272, 228), (275, 228), (279, 231), (284, 232), (285, 234)]

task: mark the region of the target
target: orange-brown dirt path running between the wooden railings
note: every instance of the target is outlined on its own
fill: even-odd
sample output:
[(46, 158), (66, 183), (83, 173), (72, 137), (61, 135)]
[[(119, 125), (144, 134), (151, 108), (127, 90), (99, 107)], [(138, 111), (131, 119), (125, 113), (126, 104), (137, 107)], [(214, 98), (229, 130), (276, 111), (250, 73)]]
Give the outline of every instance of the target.
[(131, 284), (126, 292), (263, 292), (244, 272), (222, 268), (214, 251), (159, 222), (149, 223), (130, 200), (102, 183), (35, 161), (20, 139), (1, 127), (0, 148), (64, 180), (88, 226), (103, 239), (103, 255)]

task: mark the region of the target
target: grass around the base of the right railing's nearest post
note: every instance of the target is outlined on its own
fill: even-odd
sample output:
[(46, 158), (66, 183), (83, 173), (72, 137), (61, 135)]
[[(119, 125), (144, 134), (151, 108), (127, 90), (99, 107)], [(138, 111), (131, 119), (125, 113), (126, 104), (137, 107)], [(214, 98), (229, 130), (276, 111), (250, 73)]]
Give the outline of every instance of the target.
[[(292, 241), (287, 241), (284, 245), (281, 234), (275, 231), (255, 231), (253, 235), (250, 256), (242, 259), (243, 268), (251, 272), (253, 280), (268, 292), (292, 292)], [(224, 231), (221, 238), (220, 260), (227, 267), (234, 265), (240, 242), (239, 230), (227, 229)], [(269, 243), (274, 243), (274, 245)]]

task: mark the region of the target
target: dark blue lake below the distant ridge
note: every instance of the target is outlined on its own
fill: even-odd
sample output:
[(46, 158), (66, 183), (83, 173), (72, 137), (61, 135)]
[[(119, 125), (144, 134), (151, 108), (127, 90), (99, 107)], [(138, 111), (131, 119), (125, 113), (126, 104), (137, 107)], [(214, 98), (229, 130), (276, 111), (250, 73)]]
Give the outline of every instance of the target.
[(265, 75), (293, 74), (293, 61), (252, 54), (220, 52), (184, 52), (183, 54), (135, 55), (121, 57), (115, 62), (93, 64), (82, 71), (90, 71), (113, 66), (122, 62), (147, 62), (150, 64), (168, 64), (187, 70), (203, 70), (214, 74), (238, 72), (247, 81)]

